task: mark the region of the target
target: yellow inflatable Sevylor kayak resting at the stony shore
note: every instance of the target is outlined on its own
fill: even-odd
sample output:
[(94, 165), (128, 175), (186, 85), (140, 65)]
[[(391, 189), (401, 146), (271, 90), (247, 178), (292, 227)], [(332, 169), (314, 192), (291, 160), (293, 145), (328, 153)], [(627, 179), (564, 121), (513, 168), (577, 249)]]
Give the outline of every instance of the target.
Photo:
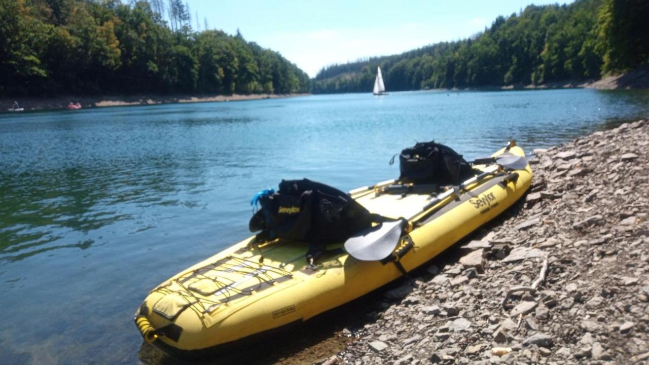
[[(507, 162), (497, 158), (505, 161), (506, 155), (519, 162), (503, 166)], [(249, 238), (151, 290), (136, 312), (136, 325), (147, 342), (167, 353), (203, 357), (234, 351), (254, 338), (363, 296), (498, 216), (532, 181), (524, 151), (513, 142), (497, 151), (493, 162), (474, 168), (483, 173), (434, 197), (415, 189), (382, 194), (395, 181), (349, 193), (370, 212), (408, 218), (408, 229), (398, 237), (389, 260), (359, 260), (353, 252), (332, 249), (312, 266), (304, 259), (304, 244), (284, 240), (253, 244)], [(342, 242), (331, 246), (340, 248)]]

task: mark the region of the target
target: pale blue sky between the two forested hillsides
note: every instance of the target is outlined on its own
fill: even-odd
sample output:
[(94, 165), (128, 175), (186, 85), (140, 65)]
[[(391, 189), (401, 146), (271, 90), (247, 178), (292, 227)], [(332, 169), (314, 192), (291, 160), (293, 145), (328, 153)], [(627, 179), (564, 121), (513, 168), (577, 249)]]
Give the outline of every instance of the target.
[[(559, 1), (560, 4), (572, 1)], [(393, 55), (467, 38), (498, 15), (546, 0), (297, 1), (189, 0), (192, 25), (234, 34), (280, 52), (311, 77), (323, 66)]]

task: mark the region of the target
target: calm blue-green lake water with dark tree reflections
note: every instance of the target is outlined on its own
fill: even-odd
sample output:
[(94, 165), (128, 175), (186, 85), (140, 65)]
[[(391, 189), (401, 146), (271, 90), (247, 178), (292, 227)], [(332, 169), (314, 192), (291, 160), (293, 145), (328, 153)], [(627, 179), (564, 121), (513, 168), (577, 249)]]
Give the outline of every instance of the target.
[(0, 361), (138, 362), (151, 288), (250, 235), (281, 179), (350, 190), (435, 140), (474, 158), (649, 115), (648, 90), (399, 92), (0, 115)]

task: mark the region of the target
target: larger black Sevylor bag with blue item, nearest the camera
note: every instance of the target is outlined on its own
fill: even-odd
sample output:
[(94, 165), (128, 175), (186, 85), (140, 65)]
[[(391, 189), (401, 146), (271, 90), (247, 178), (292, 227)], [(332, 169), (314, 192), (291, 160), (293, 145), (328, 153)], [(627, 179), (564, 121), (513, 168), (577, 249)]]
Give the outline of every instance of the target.
[(251, 232), (305, 242), (310, 251), (345, 242), (381, 220), (344, 192), (308, 179), (282, 180), (278, 192), (256, 195), (253, 205), (257, 201), (261, 208), (252, 216)]

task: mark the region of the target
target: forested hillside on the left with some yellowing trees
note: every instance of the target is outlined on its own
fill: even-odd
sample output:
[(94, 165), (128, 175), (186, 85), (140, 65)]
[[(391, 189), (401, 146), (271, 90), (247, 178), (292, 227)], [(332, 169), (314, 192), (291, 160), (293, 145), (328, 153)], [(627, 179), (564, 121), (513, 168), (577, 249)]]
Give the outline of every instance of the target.
[(0, 96), (309, 91), (280, 54), (191, 18), (180, 0), (0, 0)]

